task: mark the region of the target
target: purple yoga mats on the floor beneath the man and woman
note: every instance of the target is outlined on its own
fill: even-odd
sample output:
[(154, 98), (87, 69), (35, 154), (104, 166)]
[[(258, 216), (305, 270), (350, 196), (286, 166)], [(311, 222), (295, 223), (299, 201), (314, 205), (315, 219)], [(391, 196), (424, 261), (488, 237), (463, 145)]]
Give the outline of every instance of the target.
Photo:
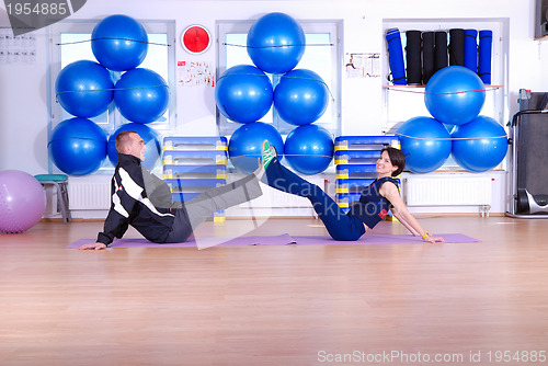
[[(441, 233), (447, 243), (464, 243), (464, 242), (480, 242), (480, 240), (461, 235), (461, 233)], [(94, 239), (80, 239), (67, 248), (79, 248), (82, 244), (93, 243)], [(395, 236), (395, 235), (365, 235), (356, 241), (336, 241), (328, 236), (289, 236), (287, 233), (281, 236), (264, 236), (264, 237), (238, 237), (233, 239), (219, 238), (198, 238), (190, 239), (184, 243), (157, 244), (146, 239), (115, 239), (109, 248), (173, 248), (173, 247), (235, 247), (235, 245), (321, 245), (321, 244), (423, 244), (424, 241), (419, 237), (411, 235)]]

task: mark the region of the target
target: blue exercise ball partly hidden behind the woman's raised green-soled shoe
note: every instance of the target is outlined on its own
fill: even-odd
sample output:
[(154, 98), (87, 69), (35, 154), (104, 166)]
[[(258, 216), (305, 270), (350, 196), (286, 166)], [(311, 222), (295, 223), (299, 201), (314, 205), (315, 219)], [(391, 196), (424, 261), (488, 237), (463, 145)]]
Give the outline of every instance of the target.
[(241, 126), (230, 137), (228, 156), (232, 165), (248, 174), (255, 171), (264, 140), (276, 148), (278, 160), (282, 160), (284, 140), (277, 129), (263, 122), (255, 122)]

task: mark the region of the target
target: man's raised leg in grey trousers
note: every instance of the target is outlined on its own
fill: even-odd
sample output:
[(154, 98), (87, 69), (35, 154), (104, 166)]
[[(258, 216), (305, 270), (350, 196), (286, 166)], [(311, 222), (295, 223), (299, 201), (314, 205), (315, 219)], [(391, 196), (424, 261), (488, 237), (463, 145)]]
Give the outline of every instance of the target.
[(263, 194), (255, 174), (249, 174), (233, 183), (208, 190), (196, 198), (174, 208), (175, 220), (165, 242), (184, 242), (199, 224), (219, 209), (239, 205)]

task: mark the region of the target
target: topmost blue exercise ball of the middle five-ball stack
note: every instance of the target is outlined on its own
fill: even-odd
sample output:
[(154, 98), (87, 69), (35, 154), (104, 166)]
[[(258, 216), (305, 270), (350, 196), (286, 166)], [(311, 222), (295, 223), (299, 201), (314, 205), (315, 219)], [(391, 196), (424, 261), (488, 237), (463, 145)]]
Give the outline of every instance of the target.
[(270, 13), (253, 23), (247, 44), (248, 55), (258, 68), (285, 73), (293, 70), (305, 54), (305, 31), (292, 16)]

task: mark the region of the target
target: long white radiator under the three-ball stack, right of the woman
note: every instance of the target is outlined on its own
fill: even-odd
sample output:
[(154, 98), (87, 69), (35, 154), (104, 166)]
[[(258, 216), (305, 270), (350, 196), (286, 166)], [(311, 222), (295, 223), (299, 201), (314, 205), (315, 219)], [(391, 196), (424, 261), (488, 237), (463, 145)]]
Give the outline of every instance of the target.
[(492, 180), (481, 178), (404, 179), (408, 206), (490, 206)]

